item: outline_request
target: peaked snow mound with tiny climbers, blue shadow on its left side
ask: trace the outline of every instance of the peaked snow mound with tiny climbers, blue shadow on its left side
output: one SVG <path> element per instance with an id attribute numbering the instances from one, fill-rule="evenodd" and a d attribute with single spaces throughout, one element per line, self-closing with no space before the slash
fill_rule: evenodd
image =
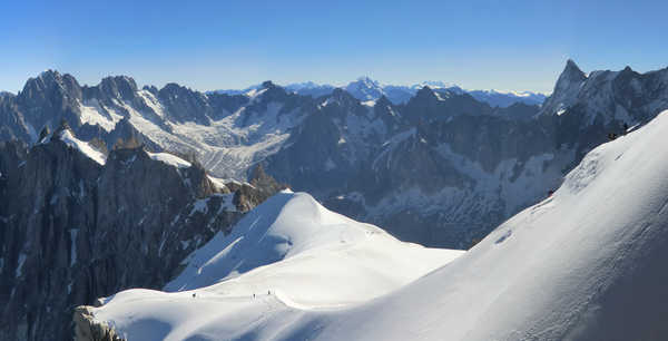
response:
<path id="1" fill-rule="evenodd" d="M 232 234 L 194 252 L 166 285 L 170 293 L 125 291 L 106 299 L 95 316 L 130 340 L 232 338 L 276 315 L 377 298 L 461 254 L 399 242 L 327 211 L 308 194 L 283 192 Z"/>

